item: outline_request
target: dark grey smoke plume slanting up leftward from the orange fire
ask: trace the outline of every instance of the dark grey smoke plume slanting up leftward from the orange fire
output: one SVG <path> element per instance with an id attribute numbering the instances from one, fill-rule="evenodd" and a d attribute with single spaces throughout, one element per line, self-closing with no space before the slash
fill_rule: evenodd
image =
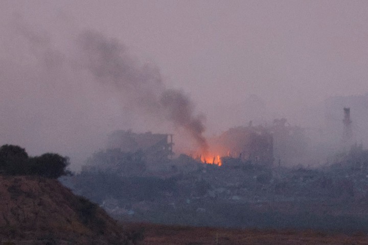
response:
<path id="1" fill-rule="evenodd" d="M 208 149 L 203 117 L 193 113 L 193 104 L 180 90 L 166 89 L 156 67 L 140 67 L 117 40 L 85 32 L 80 35 L 82 66 L 102 83 L 114 86 L 130 105 L 153 114 L 165 116 L 174 126 L 186 130 L 199 144 Z"/>

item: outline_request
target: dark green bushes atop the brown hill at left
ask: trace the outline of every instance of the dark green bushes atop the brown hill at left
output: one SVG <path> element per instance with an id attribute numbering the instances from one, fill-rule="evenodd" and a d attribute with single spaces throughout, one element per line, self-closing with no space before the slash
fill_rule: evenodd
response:
<path id="1" fill-rule="evenodd" d="M 3 175 L 36 175 L 51 179 L 67 175 L 67 157 L 55 153 L 29 157 L 24 148 L 5 144 L 0 147 L 0 173 Z"/>

